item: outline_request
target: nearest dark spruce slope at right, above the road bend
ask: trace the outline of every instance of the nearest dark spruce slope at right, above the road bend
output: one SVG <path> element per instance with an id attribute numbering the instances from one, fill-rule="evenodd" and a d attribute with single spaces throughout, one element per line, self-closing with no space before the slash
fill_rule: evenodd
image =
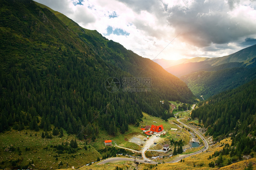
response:
<path id="1" fill-rule="evenodd" d="M 232 147 L 227 150 L 230 157 L 249 155 L 256 151 L 256 79 L 239 88 L 209 98 L 191 113 L 207 128 L 205 135 L 214 140 L 232 136 Z"/>

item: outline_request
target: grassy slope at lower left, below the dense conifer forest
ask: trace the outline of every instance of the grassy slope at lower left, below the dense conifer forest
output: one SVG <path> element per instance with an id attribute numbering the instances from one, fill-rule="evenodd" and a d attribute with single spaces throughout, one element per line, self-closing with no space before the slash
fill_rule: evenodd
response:
<path id="1" fill-rule="evenodd" d="M 64 152 L 58 154 L 53 147 L 54 145 L 61 144 L 62 142 L 70 142 L 71 139 L 75 139 L 74 135 L 67 135 L 64 132 L 64 136 L 59 138 L 53 136 L 52 139 L 42 139 L 42 131 L 35 132 L 30 130 L 23 131 L 7 131 L 1 135 L 0 143 L 2 150 L 11 147 L 13 151 L 0 152 L 0 161 L 4 164 L 4 167 L 11 168 L 13 166 L 20 166 L 25 168 L 26 166 L 32 167 L 34 164 L 36 169 L 58 169 L 75 166 L 79 168 L 90 161 L 96 161 L 100 154 L 93 146 L 87 145 L 88 150 L 85 150 L 84 142 L 77 141 L 78 149 L 76 153 Z M 31 134 L 31 136 L 30 136 Z M 37 134 L 37 136 L 35 136 Z M 58 163 L 63 162 L 63 166 L 59 166 Z M 4 168 L 1 165 L 1 168 Z M 0 169 L 1 169 L 0 168 Z"/>

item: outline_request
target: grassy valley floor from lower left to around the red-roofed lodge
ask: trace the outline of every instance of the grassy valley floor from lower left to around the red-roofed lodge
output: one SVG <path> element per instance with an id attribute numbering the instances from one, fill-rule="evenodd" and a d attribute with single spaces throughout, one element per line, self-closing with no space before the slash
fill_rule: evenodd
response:
<path id="1" fill-rule="evenodd" d="M 39 132 L 31 131 L 29 129 L 25 129 L 22 131 L 11 130 L 6 131 L 4 134 L 1 133 L 0 143 L 2 146 L 2 150 L 10 149 L 12 151 L 8 152 L 0 152 L 0 169 L 11 168 L 11 167 L 20 167 L 27 168 L 32 167 L 31 164 L 34 164 L 34 168 L 36 169 L 58 169 L 58 168 L 70 168 L 74 166 L 75 168 L 79 168 L 84 166 L 87 163 L 95 162 L 97 157 L 102 158 L 102 154 L 98 151 L 100 149 L 104 149 L 106 146 L 104 145 L 104 140 L 113 140 L 119 146 L 130 148 L 133 150 L 141 150 L 141 146 L 138 144 L 129 142 L 129 140 L 137 135 L 146 135 L 142 133 L 140 130 L 141 125 L 144 127 L 146 125 L 163 125 L 164 131 L 166 131 L 165 135 L 161 135 L 163 138 L 158 145 L 152 149 L 161 149 L 163 144 L 169 144 L 170 139 L 174 139 L 174 141 L 178 141 L 180 139 L 185 141 L 185 144 L 189 142 L 190 134 L 185 128 L 178 128 L 177 125 L 172 122 L 177 123 L 175 118 L 168 119 L 168 122 L 148 115 L 143 112 L 143 121 L 139 123 L 139 126 L 129 125 L 129 130 L 124 134 L 121 134 L 118 131 L 116 136 L 110 136 L 105 131 L 99 131 L 99 135 L 96 137 L 94 141 L 91 139 L 87 139 L 87 149 L 85 150 L 85 140 L 79 141 L 78 149 L 74 153 L 68 153 L 68 151 L 64 151 L 63 153 L 57 153 L 54 145 L 61 145 L 62 143 L 68 142 L 70 143 L 71 139 L 76 139 L 75 135 L 68 135 L 64 131 L 64 136 L 62 138 L 58 136 L 53 136 L 52 139 L 42 138 L 42 130 Z M 157 123 L 154 123 L 157 122 Z M 53 128 L 53 127 L 52 127 Z M 171 131 L 171 128 L 178 128 L 178 131 Z M 49 132 L 50 133 L 50 132 Z M 36 135 L 35 135 L 36 134 Z M 113 142 L 113 145 L 115 143 Z M 107 146 L 111 147 L 111 146 Z M 174 146 L 170 146 L 173 149 Z M 171 152 L 168 152 L 170 154 Z M 104 154 L 104 153 L 103 153 Z M 140 155 L 140 153 L 134 153 L 133 155 Z M 59 163 L 62 162 L 63 165 L 59 166 Z"/>

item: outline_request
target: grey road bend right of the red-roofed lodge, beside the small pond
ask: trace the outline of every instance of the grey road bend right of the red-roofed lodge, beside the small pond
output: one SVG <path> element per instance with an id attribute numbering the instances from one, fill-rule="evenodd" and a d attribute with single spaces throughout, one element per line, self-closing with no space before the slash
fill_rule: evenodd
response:
<path id="1" fill-rule="evenodd" d="M 184 118 L 180 118 L 180 119 L 184 119 Z M 196 134 L 198 134 L 198 136 L 203 140 L 204 144 L 205 144 L 205 148 L 199 150 L 199 151 L 196 151 L 194 153 L 190 153 L 190 154 L 186 154 L 186 155 L 179 155 L 178 158 L 172 160 L 172 161 L 169 161 L 169 162 L 166 162 L 166 163 L 175 163 L 175 162 L 179 162 L 181 159 L 184 159 L 184 158 L 187 158 L 189 156 L 192 156 L 192 155 L 196 155 L 196 154 L 199 154 L 199 153 L 202 153 L 203 151 L 207 150 L 209 148 L 209 144 L 208 142 L 206 141 L 206 139 L 204 138 L 204 136 L 202 136 L 197 130 L 195 130 L 194 128 L 191 128 L 190 126 L 186 125 L 185 123 L 182 123 L 181 121 L 179 121 L 180 119 L 177 119 L 177 121 L 179 123 L 181 123 L 182 125 L 186 126 L 187 128 L 190 128 L 192 131 L 196 132 Z"/>

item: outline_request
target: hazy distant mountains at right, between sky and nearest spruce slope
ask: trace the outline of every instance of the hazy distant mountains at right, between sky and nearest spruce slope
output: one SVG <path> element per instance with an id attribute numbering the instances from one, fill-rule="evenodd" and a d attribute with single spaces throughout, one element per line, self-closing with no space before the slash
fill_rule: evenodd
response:
<path id="1" fill-rule="evenodd" d="M 204 99 L 236 88 L 256 77 L 256 45 L 217 58 L 154 61 L 187 83 L 196 97 L 203 95 Z"/>

